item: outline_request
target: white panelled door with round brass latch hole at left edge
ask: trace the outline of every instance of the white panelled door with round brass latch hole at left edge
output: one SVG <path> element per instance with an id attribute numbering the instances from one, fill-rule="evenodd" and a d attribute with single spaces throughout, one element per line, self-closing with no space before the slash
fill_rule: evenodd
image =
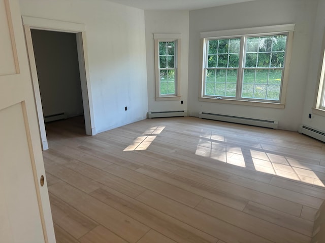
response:
<path id="1" fill-rule="evenodd" d="M 54 243 L 18 0 L 0 0 L 0 33 L 0 242 Z"/>

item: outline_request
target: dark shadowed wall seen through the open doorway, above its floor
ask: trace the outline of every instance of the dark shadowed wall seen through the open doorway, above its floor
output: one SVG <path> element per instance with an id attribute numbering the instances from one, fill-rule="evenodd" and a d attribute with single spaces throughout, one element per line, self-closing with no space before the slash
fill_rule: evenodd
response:
<path id="1" fill-rule="evenodd" d="M 45 123 L 84 115 L 76 34 L 30 32 Z"/>

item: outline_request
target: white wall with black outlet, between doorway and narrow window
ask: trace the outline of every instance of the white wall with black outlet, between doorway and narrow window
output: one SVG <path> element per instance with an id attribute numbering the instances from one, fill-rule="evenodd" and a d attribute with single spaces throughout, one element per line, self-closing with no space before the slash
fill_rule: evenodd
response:
<path id="1" fill-rule="evenodd" d="M 105 0 L 20 0 L 20 8 L 25 16 L 85 24 L 96 133 L 146 118 L 143 10 Z"/>

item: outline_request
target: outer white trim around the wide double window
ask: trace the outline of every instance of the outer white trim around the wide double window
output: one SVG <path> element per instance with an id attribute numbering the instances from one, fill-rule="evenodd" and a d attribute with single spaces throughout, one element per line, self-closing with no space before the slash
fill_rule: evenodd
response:
<path id="1" fill-rule="evenodd" d="M 288 77 L 289 77 L 289 64 L 292 53 L 293 46 L 293 36 L 294 36 L 295 24 L 284 24 L 284 25 L 275 25 L 275 26 L 265 26 L 265 27 L 254 27 L 254 28 L 244 28 L 244 29 L 233 29 L 233 30 L 220 30 L 220 31 L 210 31 L 210 32 L 201 32 L 201 84 L 199 90 L 199 101 L 204 102 L 214 102 L 214 103 L 223 103 L 223 104 L 238 104 L 238 105 L 250 105 L 250 106 L 260 106 L 260 107 L 270 107 L 270 108 L 285 108 L 285 98 L 286 98 L 286 90 L 288 85 Z M 281 34 L 287 33 L 287 47 L 286 47 L 286 58 L 284 62 L 284 72 L 283 72 L 283 80 L 281 86 L 280 100 L 279 102 L 270 102 L 269 100 L 252 100 L 252 99 L 234 99 L 234 98 L 214 98 L 214 97 L 206 97 L 204 96 L 204 69 L 205 69 L 205 57 L 206 57 L 206 42 L 209 39 L 215 38 L 234 38 L 243 36 L 261 36 L 261 35 L 271 35 L 271 34 Z M 243 62 L 244 50 L 240 50 L 240 62 Z M 241 80 L 241 79 L 240 79 Z M 238 84 L 238 83 L 237 83 Z M 238 89 L 237 95 L 240 92 Z"/>

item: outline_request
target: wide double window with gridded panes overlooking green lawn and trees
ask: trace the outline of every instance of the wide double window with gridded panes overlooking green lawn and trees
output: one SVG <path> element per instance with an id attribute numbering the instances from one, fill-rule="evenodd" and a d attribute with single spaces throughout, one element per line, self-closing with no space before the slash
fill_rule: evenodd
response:
<path id="1" fill-rule="evenodd" d="M 294 25 L 275 27 L 292 31 Z M 258 31 L 261 28 L 234 30 L 236 35 L 229 35 L 231 31 L 201 33 L 209 35 L 203 38 L 202 101 L 284 103 L 292 32 Z M 230 37 L 210 37 L 219 32 Z"/>

